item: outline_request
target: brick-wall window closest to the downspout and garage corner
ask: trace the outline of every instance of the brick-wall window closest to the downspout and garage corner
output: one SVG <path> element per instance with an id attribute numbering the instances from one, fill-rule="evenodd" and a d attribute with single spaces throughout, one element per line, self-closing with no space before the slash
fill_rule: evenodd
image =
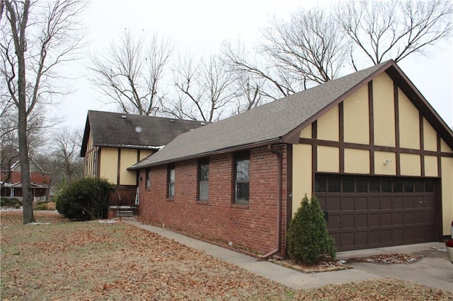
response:
<path id="1" fill-rule="evenodd" d="M 248 203 L 250 191 L 250 153 L 240 153 L 234 158 L 235 203 Z"/>

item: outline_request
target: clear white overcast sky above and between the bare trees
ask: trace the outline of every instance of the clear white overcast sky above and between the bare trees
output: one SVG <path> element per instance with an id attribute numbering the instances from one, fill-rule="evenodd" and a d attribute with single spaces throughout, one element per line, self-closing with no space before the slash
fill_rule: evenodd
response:
<path id="1" fill-rule="evenodd" d="M 287 18 L 302 5 L 323 5 L 326 1 L 304 0 L 155 0 L 117 1 L 92 0 L 85 12 L 84 22 L 88 26 L 90 44 L 86 52 L 100 52 L 120 35 L 125 28 L 132 33 L 144 31 L 152 35 L 159 33 L 170 37 L 176 52 L 209 55 L 219 50 L 223 40 L 236 39 L 250 42 L 258 37 L 271 16 Z M 105 107 L 102 97 L 88 81 L 89 61 L 79 62 L 79 71 L 73 76 L 80 79 L 74 84 L 76 92 L 67 95 L 61 105 L 50 114 L 67 117 L 59 126 L 83 128 L 88 110 L 113 110 Z M 442 43 L 442 47 L 431 49 L 425 56 L 404 59 L 398 65 L 420 90 L 432 107 L 449 125 L 453 125 L 453 41 Z"/>

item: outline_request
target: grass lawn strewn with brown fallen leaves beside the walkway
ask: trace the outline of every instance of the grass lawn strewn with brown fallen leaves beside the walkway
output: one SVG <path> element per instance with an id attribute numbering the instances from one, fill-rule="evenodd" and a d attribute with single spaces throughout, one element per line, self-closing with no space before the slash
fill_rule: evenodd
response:
<path id="1" fill-rule="evenodd" d="M 1 300 L 453 299 L 389 278 L 296 291 L 125 223 L 35 217 L 0 213 Z"/>

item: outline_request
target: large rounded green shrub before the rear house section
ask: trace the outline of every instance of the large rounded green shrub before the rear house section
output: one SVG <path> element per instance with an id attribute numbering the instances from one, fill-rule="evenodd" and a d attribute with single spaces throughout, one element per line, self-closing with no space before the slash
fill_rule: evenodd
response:
<path id="1" fill-rule="evenodd" d="M 80 179 L 60 191 L 55 200 L 57 211 L 72 220 L 107 218 L 108 199 L 115 191 L 105 179 Z"/>

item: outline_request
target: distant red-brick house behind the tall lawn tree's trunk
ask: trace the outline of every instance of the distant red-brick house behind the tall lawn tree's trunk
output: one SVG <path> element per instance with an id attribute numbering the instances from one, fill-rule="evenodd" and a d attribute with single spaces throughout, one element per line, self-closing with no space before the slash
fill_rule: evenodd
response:
<path id="1" fill-rule="evenodd" d="M 21 164 L 17 151 L 2 150 L 0 196 L 22 199 Z M 30 182 L 33 200 L 46 201 L 49 196 L 50 173 L 42 170 L 40 165 L 30 158 Z"/>

